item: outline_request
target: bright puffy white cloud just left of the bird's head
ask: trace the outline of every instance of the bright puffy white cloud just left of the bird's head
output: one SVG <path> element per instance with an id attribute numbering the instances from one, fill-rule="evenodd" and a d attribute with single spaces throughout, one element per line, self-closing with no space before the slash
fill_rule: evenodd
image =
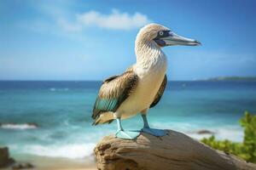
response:
<path id="1" fill-rule="evenodd" d="M 81 26 L 98 26 L 113 30 L 131 30 L 133 28 L 144 26 L 149 23 L 148 16 L 145 14 L 120 13 L 119 10 L 113 9 L 111 14 L 101 14 L 91 10 L 84 14 L 77 15 L 77 22 Z"/>

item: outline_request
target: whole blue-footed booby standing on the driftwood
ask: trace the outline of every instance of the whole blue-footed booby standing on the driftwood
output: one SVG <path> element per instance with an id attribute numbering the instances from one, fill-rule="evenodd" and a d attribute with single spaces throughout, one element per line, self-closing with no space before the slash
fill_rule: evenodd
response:
<path id="1" fill-rule="evenodd" d="M 121 120 L 140 113 L 144 126 L 142 132 L 154 136 L 166 135 L 165 130 L 150 128 L 148 110 L 157 105 L 166 88 L 166 54 L 163 47 L 172 45 L 197 46 L 201 43 L 175 34 L 165 26 L 149 24 L 137 34 L 135 53 L 137 61 L 119 76 L 102 82 L 96 98 L 92 118 L 93 125 L 110 123 L 115 119 L 120 139 L 136 139 L 140 131 L 127 131 Z"/>

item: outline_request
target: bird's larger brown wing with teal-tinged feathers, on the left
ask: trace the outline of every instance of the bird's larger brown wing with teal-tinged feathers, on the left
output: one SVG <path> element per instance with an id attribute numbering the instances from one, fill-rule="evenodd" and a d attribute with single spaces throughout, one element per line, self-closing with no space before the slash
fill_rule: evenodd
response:
<path id="1" fill-rule="evenodd" d="M 133 71 L 125 71 L 120 76 L 109 77 L 102 83 L 96 99 L 92 118 L 96 120 L 102 113 L 117 111 L 132 90 L 137 86 L 138 77 Z"/>

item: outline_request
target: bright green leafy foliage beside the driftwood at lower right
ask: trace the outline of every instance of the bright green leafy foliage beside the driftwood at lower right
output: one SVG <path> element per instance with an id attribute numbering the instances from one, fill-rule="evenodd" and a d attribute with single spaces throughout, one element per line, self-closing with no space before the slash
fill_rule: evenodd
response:
<path id="1" fill-rule="evenodd" d="M 208 139 L 201 139 L 201 142 L 216 150 L 223 150 L 225 153 L 256 163 L 256 116 L 246 111 L 240 120 L 240 124 L 244 128 L 242 143 L 232 142 L 228 139 L 216 140 L 214 136 Z"/>

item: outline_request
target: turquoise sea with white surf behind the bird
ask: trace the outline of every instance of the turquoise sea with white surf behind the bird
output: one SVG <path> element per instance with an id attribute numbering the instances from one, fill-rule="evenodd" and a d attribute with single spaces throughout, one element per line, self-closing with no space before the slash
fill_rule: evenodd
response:
<path id="1" fill-rule="evenodd" d="M 116 124 L 92 127 L 90 118 L 101 82 L 0 82 L 0 145 L 12 155 L 81 158 Z M 148 113 L 152 127 L 171 128 L 201 139 L 242 140 L 238 120 L 256 113 L 256 82 L 168 82 L 160 104 Z M 36 123 L 38 127 L 27 123 Z M 139 129 L 142 118 L 124 121 Z"/>

